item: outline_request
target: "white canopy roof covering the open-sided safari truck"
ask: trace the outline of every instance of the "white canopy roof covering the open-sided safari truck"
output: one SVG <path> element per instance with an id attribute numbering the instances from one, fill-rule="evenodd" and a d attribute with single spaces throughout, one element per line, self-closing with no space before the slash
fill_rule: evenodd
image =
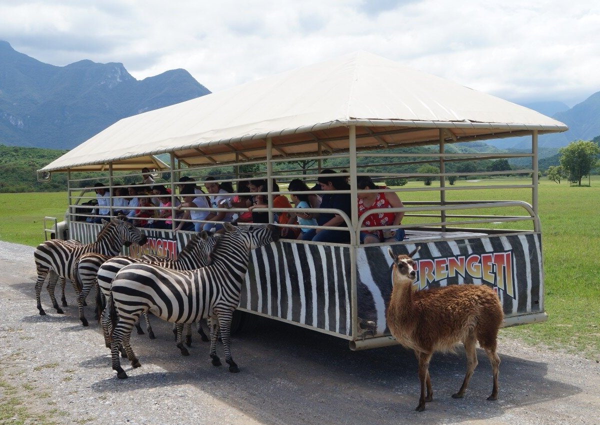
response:
<path id="1" fill-rule="evenodd" d="M 566 131 L 562 122 L 367 52 L 356 52 L 225 91 L 121 119 L 41 171 L 157 167 L 175 152 L 188 164 L 265 157 L 266 137 L 281 155 L 386 148 Z M 299 144 L 310 140 L 313 144 Z"/>

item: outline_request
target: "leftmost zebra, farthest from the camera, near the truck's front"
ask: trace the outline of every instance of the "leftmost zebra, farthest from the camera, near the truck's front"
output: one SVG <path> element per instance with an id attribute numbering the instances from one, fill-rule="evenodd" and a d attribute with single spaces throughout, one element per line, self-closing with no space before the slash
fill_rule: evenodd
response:
<path id="1" fill-rule="evenodd" d="M 94 243 L 86 245 L 73 244 L 71 241 L 52 239 L 41 243 L 34 250 L 35 267 L 37 268 L 37 282 L 35 282 L 35 299 L 40 316 L 46 315 L 41 307 L 40 293 L 46 277 L 49 276 L 47 291 L 52 300 L 56 313 L 64 313 L 56 302 L 54 289 L 59 277 L 75 281 L 74 273 L 77 260 L 83 254 L 97 252 L 104 255 L 115 256 L 125 242 L 143 245 L 146 235 L 131 223 L 116 218 L 104 226 Z"/>

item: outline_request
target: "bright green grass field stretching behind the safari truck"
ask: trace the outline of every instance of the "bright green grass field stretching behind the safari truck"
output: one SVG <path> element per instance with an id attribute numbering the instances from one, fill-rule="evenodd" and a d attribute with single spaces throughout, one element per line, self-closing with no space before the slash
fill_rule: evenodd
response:
<path id="1" fill-rule="evenodd" d="M 493 188 L 500 184 L 527 184 L 527 179 L 460 181 L 460 185 L 490 185 L 487 190 L 449 192 L 447 200 L 510 199 L 531 202 L 530 189 L 510 193 Z M 410 182 L 406 187 L 423 187 Z M 407 192 L 403 200 L 439 200 L 438 192 Z M 44 240 L 43 217 L 62 220 L 67 208 L 65 193 L 0 194 L 0 240 L 36 246 Z M 600 360 L 600 178 L 590 187 L 569 187 L 541 179 L 539 211 L 545 270 L 545 310 L 548 322 L 502 330 L 527 343 L 577 352 Z M 475 214 L 482 214 L 478 211 Z M 523 210 L 515 210 L 523 215 Z M 486 211 L 485 214 L 489 214 Z M 410 218 L 404 220 L 409 222 Z M 495 225 L 500 227 L 503 225 Z M 527 222 L 509 228 L 530 229 Z"/>

